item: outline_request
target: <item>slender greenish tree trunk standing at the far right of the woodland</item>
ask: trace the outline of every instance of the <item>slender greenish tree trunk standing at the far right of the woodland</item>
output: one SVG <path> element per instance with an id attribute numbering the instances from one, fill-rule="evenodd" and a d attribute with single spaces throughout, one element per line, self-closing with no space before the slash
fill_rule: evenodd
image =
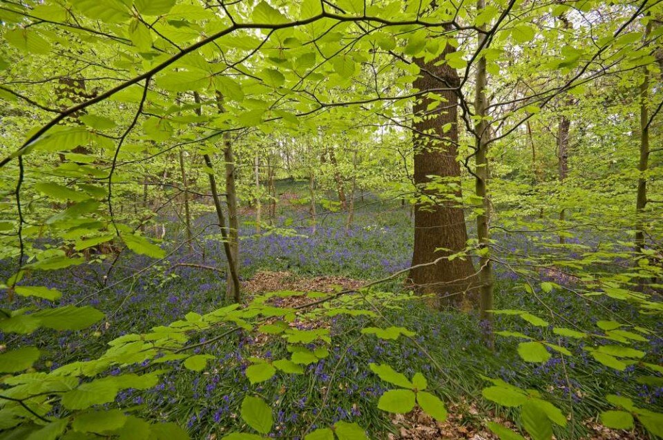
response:
<path id="1" fill-rule="evenodd" d="M 651 21 L 648 21 L 645 36 L 647 39 L 651 32 Z M 639 171 L 637 178 L 637 199 L 635 203 L 635 251 L 644 249 L 644 209 L 647 206 L 647 178 L 646 173 L 649 162 L 649 71 L 645 66 L 644 76 L 640 84 L 640 160 L 637 164 Z"/>

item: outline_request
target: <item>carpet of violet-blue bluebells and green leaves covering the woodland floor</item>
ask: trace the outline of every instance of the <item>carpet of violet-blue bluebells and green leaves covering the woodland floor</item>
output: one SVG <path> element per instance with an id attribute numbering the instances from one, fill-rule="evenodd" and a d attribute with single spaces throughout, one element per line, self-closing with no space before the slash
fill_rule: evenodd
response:
<path id="1" fill-rule="evenodd" d="M 187 312 L 205 313 L 221 307 L 224 275 L 193 267 L 175 267 L 178 262 L 195 262 L 224 267 L 222 245 L 215 237 L 213 216 L 203 215 L 196 220 L 199 233 L 198 246 L 204 247 L 204 260 L 200 252 L 190 254 L 186 247 L 172 247 L 167 261 L 136 255 L 122 254 L 109 272 L 110 259 L 97 265 L 81 265 L 63 271 L 30 274 L 30 283 L 43 283 L 56 287 L 64 294 L 61 303 L 93 305 L 106 313 L 106 320 L 92 329 L 81 332 L 56 333 L 42 331 L 20 337 L 25 343 L 35 343 L 46 352 L 45 367 L 55 368 L 73 360 L 91 358 L 104 351 L 104 344 L 129 332 L 142 332 L 153 325 L 175 321 Z M 256 236 L 251 224 L 240 231 L 241 276 L 251 278 L 256 271 L 291 271 L 298 276 L 339 275 L 359 280 L 382 278 L 404 269 L 412 255 L 412 220 L 410 211 L 400 203 L 371 204 L 360 209 L 354 225 L 344 227 L 345 218 L 333 213 L 319 216 L 316 233 L 311 231 L 307 216 L 300 211 L 281 209 L 275 224 L 280 229 Z M 180 224 L 169 227 L 171 242 L 177 242 Z M 525 234 L 504 234 L 501 246 L 524 254 L 536 251 L 536 240 Z M 135 276 L 137 271 L 154 265 Z M 0 277 L 8 276 L 7 265 L 0 265 Z M 559 280 L 557 280 L 559 282 Z M 381 289 L 401 289 L 403 280 L 395 280 Z M 539 292 L 539 294 L 542 294 Z M 611 303 L 590 303 L 577 296 L 555 290 L 545 294 L 546 302 L 569 320 L 588 329 L 604 318 L 602 307 L 615 307 Z M 497 308 L 545 310 L 532 296 L 524 293 L 517 276 L 497 268 Z M 26 303 L 30 302 L 23 299 Z M 39 303 L 48 307 L 48 303 Z M 27 304 L 26 304 L 27 305 Z M 373 432 L 390 429 L 387 414 L 376 408 L 378 397 L 385 390 L 368 369 L 370 362 L 389 363 L 411 376 L 423 372 L 431 389 L 448 402 L 468 399 L 468 405 L 455 410 L 466 412 L 465 423 L 495 408 L 486 401 L 476 399 L 485 382 L 481 374 L 499 377 L 524 388 L 537 388 L 549 392 L 551 401 L 568 412 L 573 403 L 577 420 L 586 419 L 604 409 L 603 399 L 608 393 L 638 396 L 648 408 L 662 408 L 663 389 L 651 388 L 629 380 L 631 370 L 608 371 L 583 354 L 579 343 L 560 338 L 559 344 L 572 348 L 576 356 L 566 358 L 564 365 L 559 356 L 553 356 L 545 365 L 526 364 L 515 352 L 515 340 L 498 338 L 496 353 L 490 354 L 481 344 L 481 329 L 476 318 L 452 312 L 432 312 L 423 304 L 412 303 L 405 311 L 387 318 L 390 325 L 402 325 L 419 336 L 411 341 L 381 341 L 361 337 L 356 327 L 359 318 L 339 318 L 332 323 L 333 350 L 327 359 L 309 365 L 304 375 L 277 375 L 262 383 L 258 392 L 273 403 L 276 428 L 273 437 L 297 438 L 305 428 L 327 426 L 338 420 L 357 421 Z M 619 314 L 631 320 L 642 319 L 635 309 L 619 305 Z M 388 313 L 388 312 L 387 312 Z M 646 323 L 661 330 L 660 323 Z M 498 316 L 497 327 L 535 336 L 537 332 L 549 334 L 548 329 L 527 326 L 508 316 Z M 17 343 L 17 336 L 0 335 L 2 344 Z M 662 361 L 660 341 L 647 343 L 645 350 L 652 361 Z M 421 347 L 425 347 L 440 371 L 430 363 Z M 582 346 L 580 346 L 582 347 Z M 285 347 L 260 346 L 250 336 L 218 341 L 204 352 L 218 359 L 209 364 L 203 374 L 195 374 L 175 367 L 162 377 L 153 390 L 132 392 L 126 390 L 118 396 L 124 405 L 133 404 L 137 410 L 151 414 L 155 419 L 177 421 L 189 428 L 193 438 L 205 438 L 236 429 L 240 423 L 238 407 L 249 381 L 244 376 L 247 357 L 260 354 L 282 356 Z M 338 365 L 337 365 L 338 364 Z M 565 374 L 565 372 L 568 372 Z M 111 372 L 113 374 L 113 372 Z M 329 389 L 323 401 L 323 390 Z M 463 397 L 464 396 L 464 397 Z M 477 411 L 470 411 L 470 406 Z M 503 410 L 502 410 L 503 411 Z M 392 428 L 393 429 L 393 428 Z M 581 428 L 582 429 L 582 428 Z"/>

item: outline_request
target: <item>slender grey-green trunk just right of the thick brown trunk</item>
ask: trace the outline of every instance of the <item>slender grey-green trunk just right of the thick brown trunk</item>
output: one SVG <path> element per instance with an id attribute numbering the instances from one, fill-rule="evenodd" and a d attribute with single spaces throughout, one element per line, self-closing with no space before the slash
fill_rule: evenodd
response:
<path id="1" fill-rule="evenodd" d="M 477 11 L 486 7 L 486 0 L 477 1 Z M 485 28 L 485 26 L 483 26 Z M 484 30 L 484 29 L 481 30 Z M 483 45 L 486 35 L 479 33 L 479 45 Z M 488 97 L 486 97 L 486 58 L 480 57 L 477 61 L 476 97 L 474 98 L 474 112 L 480 117 L 477 130 L 477 155 L 475 173 L 475 186 L 477 197 L 481 198 L 482 210 L 477 216 L 477 238 L 479 239 L 479 316 L 483 323 L 484 341 L 488 347 L 493 347 L 492 313 L 493 285 L 492 262 L 490 260 L 490 196 L 488 194 L 488 178 L 490 170 L 488 164 L 488 141 L 490 140 L 490 124 L 486 120 L 488 115 Z"/>

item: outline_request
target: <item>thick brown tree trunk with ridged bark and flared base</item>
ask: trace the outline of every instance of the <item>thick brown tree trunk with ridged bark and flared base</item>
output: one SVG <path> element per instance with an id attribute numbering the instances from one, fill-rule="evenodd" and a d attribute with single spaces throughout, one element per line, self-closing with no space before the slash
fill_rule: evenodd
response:
<path id="1" fill-rule="evenodd" d="M 457 87 L 459 77 L 456 70 L 447 64 L 436 65 L 453 50 L 453 46 L 448 44 L 439 59 L 427 63 L 421 58 L 414 59 L 415 64 L 421 68 L 419 77 L 414 80 L 414 88 L 430 90 Z M 430 182 L 429 175 L 457 181 L 461 176 L 460 165 L 456 160 L 456 91 L 436 93 L 443 97 L 443 102 L 432 111 L 427 111 L 427 106 L 432 102 L 428 97 L 419 99 L 413 108 L 414 182 L 423 198 L 414 207 L 414 250 L 410 281 L 417 292 L 434 294 L 438 298 L 437 306 L 459 307 L 476 303 L 472 293 L 472 288 L 476 287 L 476 276 L 470 258 L 442 259 L 435 265 L 416 267 L 462 251 L 468 240 L 462 207 L 454 201 L 440 201 L 438 191 L 425 189 L 427 182 Z M 443 130 L 446 124 L 450 124 L 448 131 Z M 461 195 L 460 190 L 454 195 Z"/>

